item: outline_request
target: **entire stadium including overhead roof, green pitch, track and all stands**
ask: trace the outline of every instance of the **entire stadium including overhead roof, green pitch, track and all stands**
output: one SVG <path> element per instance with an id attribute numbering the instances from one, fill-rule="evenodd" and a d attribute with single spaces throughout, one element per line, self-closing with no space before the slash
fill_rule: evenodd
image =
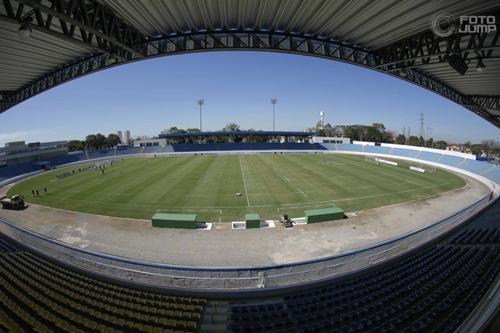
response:
<path id="1" fill-rule="evenodd" d="M 379 71 L 500 127 L 499 9 L 4 0 L 0 110 L 118 65 L 246 50 Z M 452 26 L 497 23 L 439 35 L 439 10 Z M 221 136 L 281 139 L 208 143 Z M 0 168 L 0 331 L 498 330 L 500 165 L 310 132 L 202 132 L 201 119 L 159 137 L 53 155 L 60 143 L 23 143 Z M 24 160 L 35 151 L 43 163 Z"/>

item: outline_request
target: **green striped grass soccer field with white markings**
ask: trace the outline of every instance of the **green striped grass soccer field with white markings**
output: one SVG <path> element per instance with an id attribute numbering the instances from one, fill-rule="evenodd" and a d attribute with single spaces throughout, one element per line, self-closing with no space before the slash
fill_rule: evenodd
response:
<path id="1" fill-rule="evenodd" d="M 23 194 L 36 204 L 110 216 L 149 219 L 161 211 L 196 213 L 199 220 L 238 221 L 246 213 L 299 217 L 305 209 L 333 205 L 346 212 L 362 210 L 465 185 L 449 172 L 422 174 L 398 163 L 377 165 L 363 156 L 340 154 L 128 158 L 115 161 L 104 174 L 89 170 L 57 178 L 82 165 L 53 170 L 16 184 L 9 194 Z M 48 194 L 42 193 L 44 187 Z M 32 189 L 38 189 L 40 196 L 33 197 Z"/>

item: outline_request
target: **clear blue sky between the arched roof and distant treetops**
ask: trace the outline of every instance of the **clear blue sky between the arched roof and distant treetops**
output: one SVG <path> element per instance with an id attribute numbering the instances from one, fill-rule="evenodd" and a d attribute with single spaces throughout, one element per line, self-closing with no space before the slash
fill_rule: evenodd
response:
<path id="1" fill-rule="evenodd" d="M 378 72 L 320 58 L 233 51 L 138 61 L 63 84 L 0 114 L 0 145 L 198 127 L 199 98 L 205 99 L 205 130 L 228 122 L 272 129 L 273 96 L 278 130 L 311 127 L 323 110 L 332 125 L 382 122 L 418 135 L 423 112 L 434 138 L 478 142 L 500 136 L 455 103 Z"/>

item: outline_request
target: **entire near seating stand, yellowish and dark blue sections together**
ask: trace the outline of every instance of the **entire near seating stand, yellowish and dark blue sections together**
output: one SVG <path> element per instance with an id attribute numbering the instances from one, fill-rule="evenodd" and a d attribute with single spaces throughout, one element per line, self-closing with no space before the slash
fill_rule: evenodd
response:
<path id="1" fill-rule="evenodd" d="M 0 331 L 453 332 L 500 273 L 499 217 L 497 201 L 389 263 L 320 287 L 222 301 L 97 279 L 0 234 Z"/>

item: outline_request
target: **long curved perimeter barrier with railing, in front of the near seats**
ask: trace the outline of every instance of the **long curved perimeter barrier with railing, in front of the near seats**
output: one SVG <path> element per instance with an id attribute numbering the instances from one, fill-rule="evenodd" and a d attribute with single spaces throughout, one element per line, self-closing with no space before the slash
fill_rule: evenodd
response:
<path id="1" fill-rule="evenodd" d="M 308 261 L 260 267 L 194 267 L 119 257 L 81 249 L 0 219 L 0 231 L 49 257 L 118 280 L 169 290 L 221 293 L 282 290 L 318 283 L 394 258 L 450 231 L 483 210 L 487 195 L 432 225 L 370 246 Z"/>

